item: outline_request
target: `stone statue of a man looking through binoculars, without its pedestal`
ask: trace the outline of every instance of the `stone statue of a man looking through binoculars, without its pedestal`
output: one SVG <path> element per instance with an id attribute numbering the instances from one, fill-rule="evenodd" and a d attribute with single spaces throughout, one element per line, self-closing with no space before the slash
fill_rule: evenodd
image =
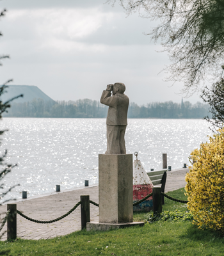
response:
<path id="1" fill-rule="evenodd" d="M 113 95 L 111 96 L 111 92 Z M 100 103 L 109 106 L 107 124 L 107 150 L 105 154 L 126 154 L 125 130 L 127 127 L 127 109 L 129 98 L 124 94 L 123 83 L 108 84 L 102 92 Z"/>

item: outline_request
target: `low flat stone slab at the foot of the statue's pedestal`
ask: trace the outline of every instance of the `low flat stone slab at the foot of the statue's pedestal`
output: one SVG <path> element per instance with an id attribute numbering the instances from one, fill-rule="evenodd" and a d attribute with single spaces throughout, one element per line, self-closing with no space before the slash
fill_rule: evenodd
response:
<path id="1" fill-rule="evenodd" d="M 129 222 L 129 223 L 99 223 L 99 222 L 87 222 L 86 231 L 108 231 L 111 229 L 128 228 L 133 226 L 144 226 L 144 222 Z"/>

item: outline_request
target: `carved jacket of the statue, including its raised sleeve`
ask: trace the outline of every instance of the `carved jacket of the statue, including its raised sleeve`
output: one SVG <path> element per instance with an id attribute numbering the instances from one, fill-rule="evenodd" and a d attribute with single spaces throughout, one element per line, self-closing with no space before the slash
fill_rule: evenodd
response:
<path id="1" fill-rule="evenodd" d="M 100 103 L 109 106 L 107 125 L 127 125 L 127 109 L 129 108 L 129 97 L 124 93 L 116 93 L 111 96 L 111 92 L 103 91 Z"/>

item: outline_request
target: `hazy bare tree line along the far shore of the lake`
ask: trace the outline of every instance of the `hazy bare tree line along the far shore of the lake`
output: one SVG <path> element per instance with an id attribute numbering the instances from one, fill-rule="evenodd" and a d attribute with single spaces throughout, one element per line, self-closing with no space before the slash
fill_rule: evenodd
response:
<path id="1" fill-rule="evenodd" d="M 31 102 L 13 102 L 4 117 L 54 117 L 54 118 L 106 118 L 108 107 L 97 100 L 83 99 L 76 101 L 44 101 L 33 99 Z M 138 106 L 130 103 L 128 118 L 204 118 L 209 115 L 209 106 L 197 102 L 180 104 L 153 102 Z"/>

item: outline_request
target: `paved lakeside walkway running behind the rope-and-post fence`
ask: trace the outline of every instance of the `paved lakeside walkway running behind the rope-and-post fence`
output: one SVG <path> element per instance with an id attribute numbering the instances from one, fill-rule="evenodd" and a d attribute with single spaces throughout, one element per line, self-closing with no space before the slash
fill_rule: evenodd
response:
<path id="1" fill-rule="evenodd" d="M 165 192 L 183 188 L 186 185 L 185 175 L 188 169 L 179 169 L 168 172 Z M 99 202 L 98 186 L 76 189 L 52 195 L 21 200 L 17 202 L 17 209 L 35 220 L 52 220 L 68 212 L 80 200 L 80 195 L 90 195 L 90 200 Z M 13 204 L 13 203 L 12 203 Z M 1 218 L 5 215 L 6 205 L 0 207 Z M 63 220 L 51 224 L 38 224 L 28 221 L 17 214 L 17 237 L 23 239 L 48 239 L 64 236 L 81 229 L 80 205 Z M 91 221 L 98 221 L 98 207 L 90 204 Z M 6 231 L 6 224 L 1 233 Z M 6 239 L 6 233 L 2 240 Z"/>

